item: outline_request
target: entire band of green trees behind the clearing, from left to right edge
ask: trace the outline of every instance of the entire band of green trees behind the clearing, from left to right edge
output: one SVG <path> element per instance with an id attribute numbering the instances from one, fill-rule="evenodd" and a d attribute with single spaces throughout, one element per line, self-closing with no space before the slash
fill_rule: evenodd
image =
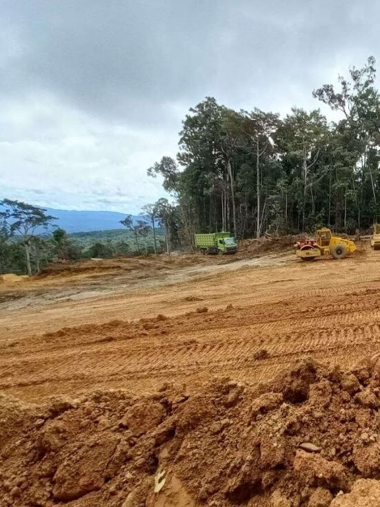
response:
<path id="1" fill-rule="evenodd" d="M 137 223 L 126 216 L 125 233 L 48 231 L 54 217 L 43 209 L 3 200 L 0 273 L 36 273 L 54 259 L 192 250 L 197 232 L 230 231 L 240 240 L 321 226 L 368 230 L 380 214 L 375 63 L 369 57 L 337 86 L 312 91 L 316 105 L 339 118 L 334 122 L 319 108 L 294 107 L 280 117 L 259 108 L 234 111 L 206 97 L 183 119 L 177 157 L 164 156 L 147 171 L 161 177 L 170 197 L 146 204 Z"/>

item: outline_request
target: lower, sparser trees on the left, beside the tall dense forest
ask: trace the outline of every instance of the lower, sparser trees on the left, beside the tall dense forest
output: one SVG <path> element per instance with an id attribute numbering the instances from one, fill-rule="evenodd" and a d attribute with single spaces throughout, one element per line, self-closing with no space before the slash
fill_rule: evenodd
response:
<path id="1" fill-rule="evenodd" d="M 154 208 L 155 209 L 155 208 Z M 147 207 L 150 211 L 150 207 Z M 154 212 L 155 213 L 155 212 Z M 53 224 L 56 220 L 46 210 L 26 202 L 0 201 L 0 274 L 37 274 L 49 262 L 81 258 L 110 258 L 156 254 L 166 250 L 159 218 L 141 215 L 121 220 L 123 231 L 82 233 L 69 236 Z"/>

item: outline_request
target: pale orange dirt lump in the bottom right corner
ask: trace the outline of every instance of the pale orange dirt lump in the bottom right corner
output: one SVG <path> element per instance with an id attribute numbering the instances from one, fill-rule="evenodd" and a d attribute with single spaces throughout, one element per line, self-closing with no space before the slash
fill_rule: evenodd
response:
<path id="1" fill-rule="evenodd" d="M 359 479 L 347 495 L 339 495 L 330 507 L 380 507 L 380 481 Z"/>

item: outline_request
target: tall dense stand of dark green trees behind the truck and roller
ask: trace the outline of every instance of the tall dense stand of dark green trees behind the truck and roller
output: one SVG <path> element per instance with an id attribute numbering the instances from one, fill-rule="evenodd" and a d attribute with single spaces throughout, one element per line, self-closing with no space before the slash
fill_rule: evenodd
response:
<path id="1" fill-rule="evenodd" d="M 337 111 L 294 107 L 286 117 L 234 111 L 213 97 L 190 108 L 177 159 L 163 157 L 148 175 L 163 178 L 173 202 L 150 205 L 170 245 L 193 245 L 195 232 L 297 233 L 326 225 L 353 233 L 379 217 L 380 98 L 375 60 L 352 67 L 315 99 Z"/>

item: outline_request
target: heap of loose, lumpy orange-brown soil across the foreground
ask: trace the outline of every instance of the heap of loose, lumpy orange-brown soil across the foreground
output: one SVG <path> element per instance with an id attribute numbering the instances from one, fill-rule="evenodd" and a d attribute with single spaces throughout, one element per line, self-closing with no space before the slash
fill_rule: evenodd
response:
<path id="1" fill-rule="evenodd" d="M 0 505 L 380 506 L 379 405 L 377 356 L 192 395 L 170 383 L 38 406 L 3 395 Z"/>

